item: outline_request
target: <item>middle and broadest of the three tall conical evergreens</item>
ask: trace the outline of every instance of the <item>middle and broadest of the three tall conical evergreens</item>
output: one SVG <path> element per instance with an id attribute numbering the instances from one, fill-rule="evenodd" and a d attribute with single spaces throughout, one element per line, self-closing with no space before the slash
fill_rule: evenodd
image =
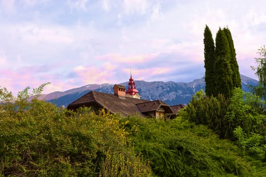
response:
<path id="1" fill-rule="evenodd" d="M 227 37 L 221 28 L 219 28 L 215 38 L 215 62 L 213 69 L 215 71 L 215 87 L 213 96 L 223 94 L 230 98 L 233 93 L 232 69 L 230 65 L 231 55 Z"/>

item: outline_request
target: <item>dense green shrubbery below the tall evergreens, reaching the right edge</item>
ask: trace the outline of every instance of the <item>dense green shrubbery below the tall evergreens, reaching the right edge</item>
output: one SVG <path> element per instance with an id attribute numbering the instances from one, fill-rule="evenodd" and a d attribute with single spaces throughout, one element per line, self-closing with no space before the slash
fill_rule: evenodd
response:
<path id="1" fill-rule="evenodd" d="M 265 102 L 258 96 L 235 89 L 231 99 L 194 96 L 183 117 L 196 124 L 207 125 L 222 139 L 229 139 L 241 149 L 243 157 L 265 166 L 266 116 Z M 266 172 L 266 168 L 261 168 Z"/>

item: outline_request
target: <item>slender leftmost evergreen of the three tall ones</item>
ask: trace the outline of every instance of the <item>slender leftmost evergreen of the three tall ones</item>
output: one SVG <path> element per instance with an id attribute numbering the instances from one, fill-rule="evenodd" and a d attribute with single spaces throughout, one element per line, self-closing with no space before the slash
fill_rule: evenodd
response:
<path id="1" fill-rule="evenodd" d="M 208 96 L 212 95 L 212 91 L 215 87 L 214 78 L 214 41 L 210 28 L 206 25 L 204 30 L 204 67 L 205 67 L 205 93 Z"/>

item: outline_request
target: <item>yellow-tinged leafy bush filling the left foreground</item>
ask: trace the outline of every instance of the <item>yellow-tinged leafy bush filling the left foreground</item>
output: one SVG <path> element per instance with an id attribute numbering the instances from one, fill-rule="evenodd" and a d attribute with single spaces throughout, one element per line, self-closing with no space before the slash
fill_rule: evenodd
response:
<path id="1" fill-rule="evenodd" d="M 23 103 L 23 104 L 22 104 Z M 119 116 L 71 112 L 43 101 L 4 104 L 0 174 L 4 176 L 149 176 Z"/>

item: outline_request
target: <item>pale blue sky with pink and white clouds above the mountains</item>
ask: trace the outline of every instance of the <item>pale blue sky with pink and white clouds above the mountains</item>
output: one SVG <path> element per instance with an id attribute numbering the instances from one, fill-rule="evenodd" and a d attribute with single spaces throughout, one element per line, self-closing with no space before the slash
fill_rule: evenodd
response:
<path id="1" fill-rule="evenodd" d="M 202 78 L 203 33 L 229 27 L 239 71 L 257 79 L 266 1 L 0 0 L 0 86 L 44 94 L 93 83 Z M 137 86 L 137 85 L 136 85 Z"/>

